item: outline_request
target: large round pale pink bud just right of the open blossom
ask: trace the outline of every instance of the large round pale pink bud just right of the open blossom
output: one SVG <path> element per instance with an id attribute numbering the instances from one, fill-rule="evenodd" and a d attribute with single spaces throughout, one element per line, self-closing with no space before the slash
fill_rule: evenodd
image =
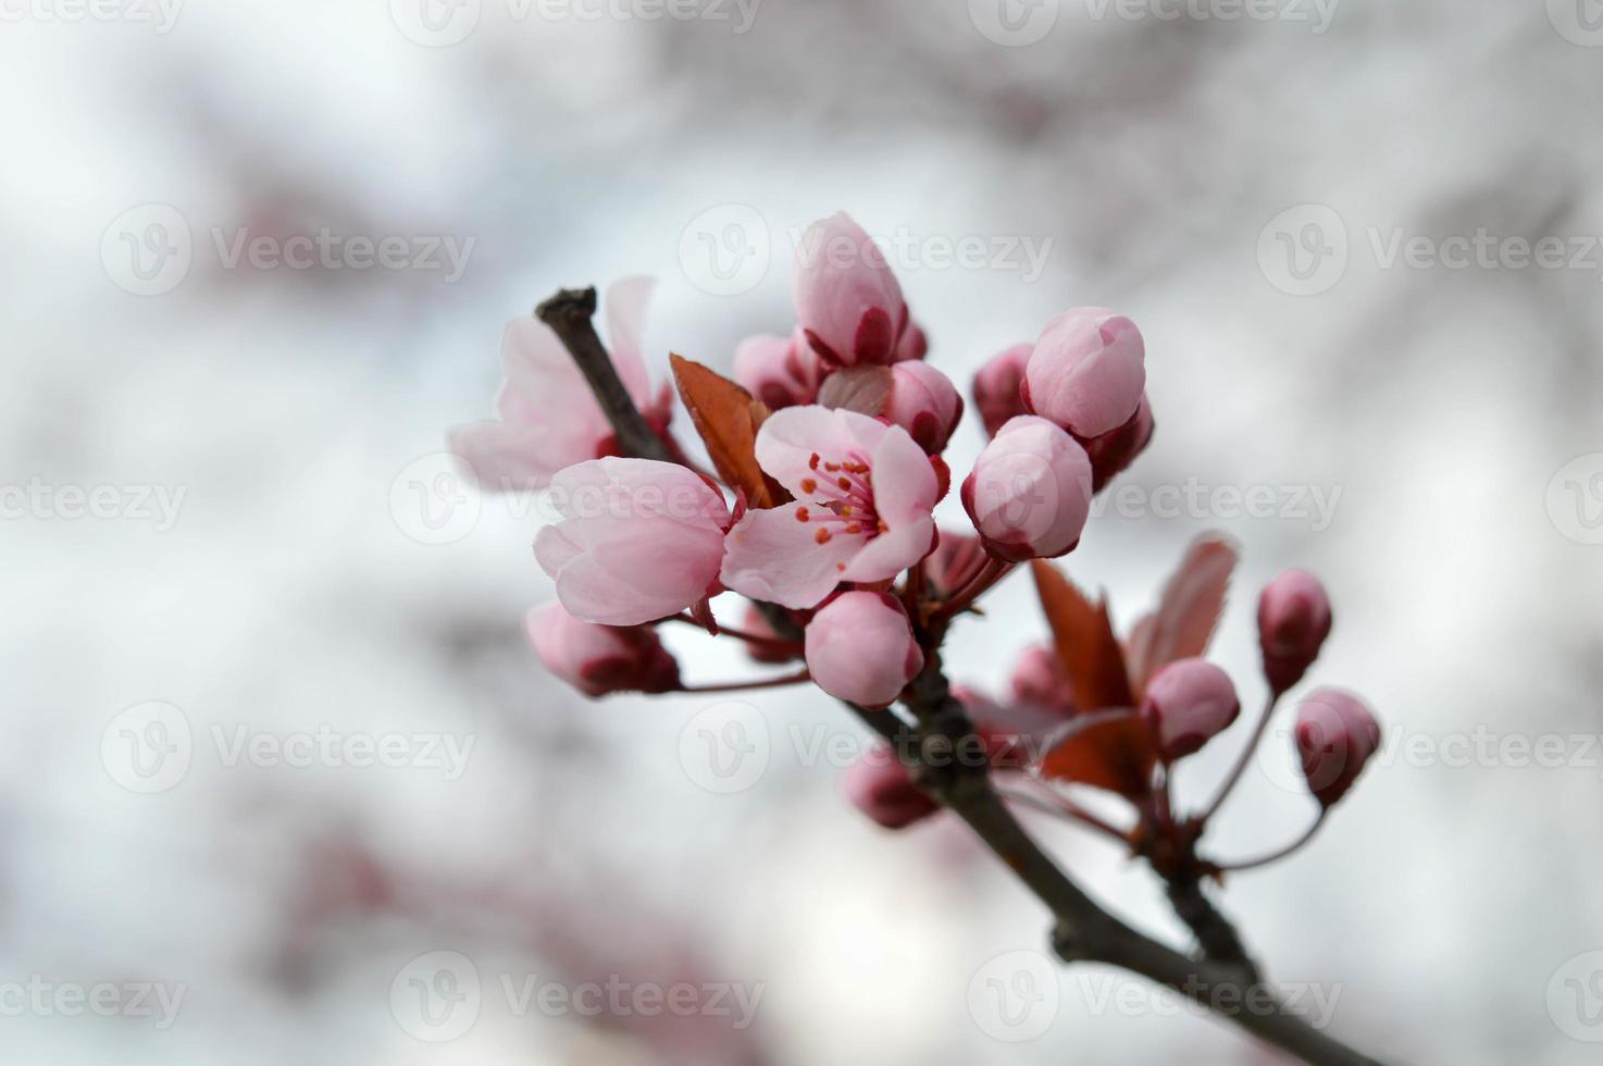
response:
<path id="1" fill-rule="evenodd" d="M 1092 460 L 1058 426 L 1021 415 L 979 454 L 962 497 L 986 551 L 1053 559 L 1074 550 L 1090 518 Z"/>

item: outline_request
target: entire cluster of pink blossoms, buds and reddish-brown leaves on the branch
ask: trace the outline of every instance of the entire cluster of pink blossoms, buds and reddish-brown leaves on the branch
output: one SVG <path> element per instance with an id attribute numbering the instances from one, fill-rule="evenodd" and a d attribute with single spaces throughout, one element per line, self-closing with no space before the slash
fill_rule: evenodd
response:
<path id="1" fill-rule="evenodd" d="M 1095 494 L 1153 439 L 1141 332 L 1106 308 L 1066 311 L 976 375 L 973 407 L 989 442 L 960 487 L 973 529 L 938 531 L 963 398 L 925 362 L 928 338 L 878 245 L 837 215 L 802 242 L 795 324 L 744 341 L 734 382 L 675 359 L 715 476 L 670 436 L 668 391 L 652 391 L 641 346 L 649 292 L 633 281 L 608 293 L 606 370 L 657 434 L 652 455 L 619 454 L 614 412 L 532 319 L 507 329 L 497 418 L 454 434 L 486 487 L 551 492 L 559 521 L 539 531 L 534 553 L 558 603 L 531 616 L 529 636 L 553 673 L 592 697 L 736 688 L 681 680 L 656 628 L 678 620 L 793 670 L 739 686 L 813 683 L 885 710 L 909 697 L 951 622 L 1011 569 L 1031 561 L 1037 582 L 1056 574 L 1045 559 L 1079 545 Z M 725 593 L 750 601 L 741 628 L 715 619 L 712 601 Z M 1106 609 L 1074 598 L 1053 606 L 1044 588 L 1055 630 L 1079 620 L 1063 622 L 1055 648 L 1026 652 L 1010 701 L 967 702 L 997 760 L 1016 761 L 1028 723 L 1031 736 L 1056 737 L 1037 779 L 1122 792 L 1143 819 L 1180 827 L 1185 850 L 1201 826 L 1161 808 L 1169 773 L 1228 729 L 1241 702 L 1196 640 L 1173 636 L 1194 633 L 1197 619 L 1165 616 L 1212 609 L 1210 633 L 1220 604 L 1169 600 L 1119 641 L 1096 628 Z M 1273 709 L 1330 632 L 1324 588 L 1297 571 L 1281 575 L 1263 592 L 1258 625 Z M 1329 806 L 1374 753 L 1379 726 L 1356 697 L 1321 691 L 1295 739 L 1310 792 Z M 896 827 L 936 810 L 896 758 L 854 768 L 848 795 Z M 1130 838 L 1151 832 L 1138 826 Z"/>

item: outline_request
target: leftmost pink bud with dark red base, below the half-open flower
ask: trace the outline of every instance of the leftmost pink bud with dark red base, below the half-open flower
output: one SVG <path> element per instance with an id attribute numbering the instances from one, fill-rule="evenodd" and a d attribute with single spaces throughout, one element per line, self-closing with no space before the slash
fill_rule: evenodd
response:
<path id="1" fill-rule="evenodd" d="M 680 667 L 654 630 L 580 622 L 558 603 L 531 611 L 524 628 L 545 668 L 585 696 L 680 686 Z"/>

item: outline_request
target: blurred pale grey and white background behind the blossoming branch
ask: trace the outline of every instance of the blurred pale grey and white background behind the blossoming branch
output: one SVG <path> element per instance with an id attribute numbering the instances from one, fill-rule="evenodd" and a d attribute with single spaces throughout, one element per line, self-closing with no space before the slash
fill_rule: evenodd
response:
<path id="1" fill-rule="evenodd" d="M 1393 1061 L 1597 1061 L 1603 18 L 1545 8 L 0 2 L 3 1058 L 1281 1061 L 1047 963 L 951 821 L 870 826 L 827 701 L 588 704 L 527 649 L 539 502 L 441 455 L 503 324 L 654 274 L 654 374 L 728 369 L 843 208 L 960 383 L 1069 306 L 1141 325 L 1157 438 L 1068 559 L 1122 624 L 1230 534 L 1254 705 L 1257 588 L 1330 587 L 1314 681 L 1388 742 L 1220 894 L 1271 978 Z M 1044 636 L 1013 579 L 952 673 Z M 1313 816 L 1268 744 L 1217 853 Z"/>

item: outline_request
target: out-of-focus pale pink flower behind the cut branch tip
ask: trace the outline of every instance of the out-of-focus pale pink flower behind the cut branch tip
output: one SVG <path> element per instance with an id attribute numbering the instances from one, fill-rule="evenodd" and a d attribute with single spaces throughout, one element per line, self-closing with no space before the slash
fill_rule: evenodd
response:
<path id="1" fill-rule="evenodd" d="M 606 316 L 612 364 L 628 394 L 649 422 L 667 426 L 672 398 L 651 394 L 651 380 L 640 354 L 646 303 L 654 282 L 632 277 L 608 289 Z M 595 394 L 543 322 L 513 319 L 502 335 L 507 382 L 491 422 L 450 431 L 450 450 L 460 455 L 486 489 L 543 489 L 564 466 L 616 454 L 612 426 Z"/>

